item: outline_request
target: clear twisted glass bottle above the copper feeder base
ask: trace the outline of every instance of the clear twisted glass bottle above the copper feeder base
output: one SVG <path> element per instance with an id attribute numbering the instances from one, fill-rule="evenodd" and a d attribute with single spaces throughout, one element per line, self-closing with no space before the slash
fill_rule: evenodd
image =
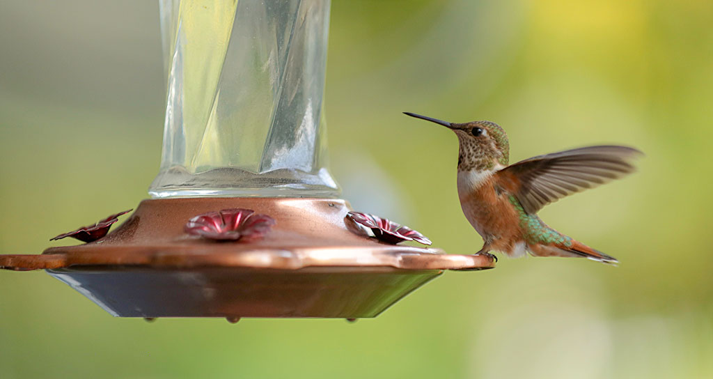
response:
<path id="1" fill-rule="evenodd" d="M 160 0 L 168 74 L 154 198 L 333 198 L 329 0 Z"/>

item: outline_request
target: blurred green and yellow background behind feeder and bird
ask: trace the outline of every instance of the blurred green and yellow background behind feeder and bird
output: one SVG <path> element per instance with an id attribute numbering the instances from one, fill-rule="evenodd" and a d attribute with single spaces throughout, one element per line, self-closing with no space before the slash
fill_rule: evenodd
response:
<path id="1" fill-rule="evenodd" d="M 329 149 L 355 208 L 481 247 L 456 137 L 401 111 L 496 121 L 513 161 L 636 146 L 634 176 L 540 213 L 620 266 L 501 259 L 355 324 L 115 319 L 45 273 L 0 272 L 1 376 L 711 378 L 711 25 L 707 0 L 335 0 Z M 147 197 L 163 83 L 154 1 L 2 1 L 0 253 Z"/>

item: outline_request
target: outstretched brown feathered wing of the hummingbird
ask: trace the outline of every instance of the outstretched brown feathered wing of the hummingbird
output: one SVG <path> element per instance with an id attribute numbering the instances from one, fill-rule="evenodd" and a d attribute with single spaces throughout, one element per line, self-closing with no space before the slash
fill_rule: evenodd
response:
<path id="1" fill-rule="evenodd" d="M 630 163 L 641 151 L 626 146 L 590 146 L 545 154 L 513 163 L 496 173 L 525 212 L 572 193 L 593 188 L 635 170 Z"/>

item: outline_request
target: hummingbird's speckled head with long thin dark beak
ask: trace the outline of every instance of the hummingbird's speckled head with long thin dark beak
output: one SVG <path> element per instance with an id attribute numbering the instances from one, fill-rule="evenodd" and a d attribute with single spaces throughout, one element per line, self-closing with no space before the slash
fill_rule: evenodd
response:
<path id="1" fill-rule="evenodd" d="M 404 112 L 404 114 L 438 123 L 455 132 L 460 146 L 458 168 L 492 170 L 498 165 L 508 166 L 510 160 L 508 135 L 497 123 L 491 121 L 450 123 L 416 113 Z"/>

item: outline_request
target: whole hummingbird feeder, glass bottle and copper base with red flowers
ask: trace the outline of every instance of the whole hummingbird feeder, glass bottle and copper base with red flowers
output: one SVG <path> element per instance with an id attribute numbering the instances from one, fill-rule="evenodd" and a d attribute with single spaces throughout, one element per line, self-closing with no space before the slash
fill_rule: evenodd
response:
<path id="1" fill-rule="evenodd" d="M 322 111 L 329 0 L 160 0 L 163 156 L 123 213 L 0 256 L 120 317 L 368 318 L 445 270 L 493 268 L 339 198 Z"/>

